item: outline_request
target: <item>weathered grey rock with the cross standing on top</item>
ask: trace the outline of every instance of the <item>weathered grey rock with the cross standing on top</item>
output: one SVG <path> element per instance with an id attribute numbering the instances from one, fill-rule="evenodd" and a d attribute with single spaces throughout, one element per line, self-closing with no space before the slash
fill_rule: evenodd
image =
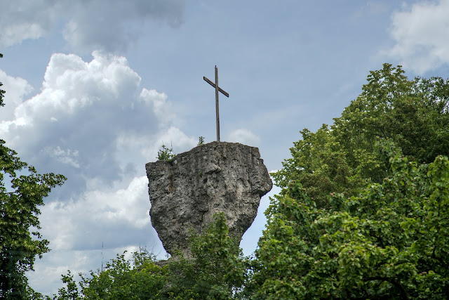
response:
<path id="1" fill-rule="evenodd" d="M 145 167 L 149 214 L 170 254 L 186 249 L 189 229 L 202 233 L 217 211 L 225 213 L 229 233 L 241 238 L 255 219 L 260 197 L 273 186 L 259 149 L 240 143 L 207 143 L 171 162 Z"/>

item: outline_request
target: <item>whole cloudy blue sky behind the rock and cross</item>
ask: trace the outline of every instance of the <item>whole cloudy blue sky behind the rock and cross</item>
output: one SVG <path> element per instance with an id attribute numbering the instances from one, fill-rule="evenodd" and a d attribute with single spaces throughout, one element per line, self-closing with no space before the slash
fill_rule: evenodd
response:
<path id="1" fill-rule="evenodd" d="M 96 270 L 140 246 L 165 252 L 149 219 L 145 163 L 215 136 L 260 148 L 281 168 L 288 148 L 332 123 L 370 70 L 449 77 L 449 0 L 0 0 L 0 138 L 40 173 L 64 174 L 42 208 L 51 252 L 29 280 Z M 278 193 L 274 188 L 270 195 Z M 250 254 L 259 214 L 241 247 Z"/>

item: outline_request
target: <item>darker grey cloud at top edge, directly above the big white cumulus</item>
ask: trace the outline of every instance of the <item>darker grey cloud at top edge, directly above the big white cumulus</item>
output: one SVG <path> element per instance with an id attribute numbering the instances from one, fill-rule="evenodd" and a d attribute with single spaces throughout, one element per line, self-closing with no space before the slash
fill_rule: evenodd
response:
<path id="1" fill-rule="evenodd" d="M 74 8 L 64 30 L 65 39 L 75 48 L 123 50 L 142 34 L 148 19 L 163 20 L 172 27 L 182 24 L 185 1 L 88 1 Z"/>

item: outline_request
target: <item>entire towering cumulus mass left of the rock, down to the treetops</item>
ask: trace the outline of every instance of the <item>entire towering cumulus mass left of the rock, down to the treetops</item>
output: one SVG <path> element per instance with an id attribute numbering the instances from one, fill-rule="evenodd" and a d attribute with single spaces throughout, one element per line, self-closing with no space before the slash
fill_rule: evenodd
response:
<path id="1" fill-rule="evenodd" d="M 11 97 L 0 119 L 6 145 L 39 173 L 68 178 L 46 198 L 39 218 L 51 249 L 67 259 L 64 270 L 87 273 L 83 268 L 92 261 L 79 260 L 102 242 L 107 251 L 141 244 L 163 252 L 150 223 L 145 163 L 156 160 L 162 141 L 177 152 L 196 145 L 196 138 L 173 125 L 168 96 L 142 88 L 126 58 L 98 51 L 90 62 L 53 54 L 39 93 L 28 99 L 25 79 L 1 72 L 0 79 Z M 58 262 L 50 252 L 30 276 L 58 282 Z"/>

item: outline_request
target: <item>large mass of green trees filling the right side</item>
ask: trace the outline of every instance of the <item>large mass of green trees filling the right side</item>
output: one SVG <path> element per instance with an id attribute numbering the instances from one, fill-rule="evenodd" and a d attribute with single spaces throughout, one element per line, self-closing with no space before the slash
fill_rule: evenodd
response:
<path id="1" fill-rule="evenodd" d="M 403 73 L 384 64 L 330 128 L 301 131 L 248 297 L 449 297 L 449 83 Z"/>

